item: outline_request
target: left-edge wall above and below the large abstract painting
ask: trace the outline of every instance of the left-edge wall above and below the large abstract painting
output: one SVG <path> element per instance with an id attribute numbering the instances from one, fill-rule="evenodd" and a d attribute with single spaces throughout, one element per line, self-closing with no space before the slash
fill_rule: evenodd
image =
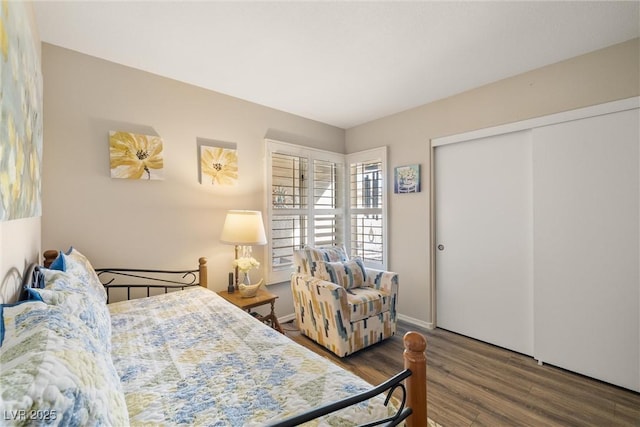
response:
<path id="1" fill-rule="evenodd" d="M 15 4 L 13 7 L 22 7 Z M 40 54 L 40 35 L 31 3 L 24 3 L 29 15 L 34 45 Z M 25 267 L 39 261 L 41 217 L 0 221 L 0 302 L 13 302 Z"/>

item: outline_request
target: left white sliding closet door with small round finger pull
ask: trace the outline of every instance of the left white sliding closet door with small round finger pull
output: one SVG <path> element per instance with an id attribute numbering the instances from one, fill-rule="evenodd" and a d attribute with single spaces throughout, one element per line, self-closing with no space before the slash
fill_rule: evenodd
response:
<path id="1" fill-rule="evenodd" d="M 438 326 L 532 355 L 531 131 L 434 156 Z"/>

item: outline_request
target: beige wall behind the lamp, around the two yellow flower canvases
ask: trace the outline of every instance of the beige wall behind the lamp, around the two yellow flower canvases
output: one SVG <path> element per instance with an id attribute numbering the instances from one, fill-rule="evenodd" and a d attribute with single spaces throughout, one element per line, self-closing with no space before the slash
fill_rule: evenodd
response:
<path id="1" fill-rule="evenodd" d="M 209 287 L 226 289 L 221 227 L 228 209 L 263 210 L 264 138 L 344 150 L 342 129 L 237 98 L 49 44 L 42 62 L 42 245 L 74 245 L 96 267 L 195 268 L 206 256 Z M 165 179 L 111 179 L 110 130 L 162 137 Z M 198 183 L 198 137 L 237 144 L 237 186 Z M 289 285 L 270 289 L 278 314 L 293 313 Z"/>

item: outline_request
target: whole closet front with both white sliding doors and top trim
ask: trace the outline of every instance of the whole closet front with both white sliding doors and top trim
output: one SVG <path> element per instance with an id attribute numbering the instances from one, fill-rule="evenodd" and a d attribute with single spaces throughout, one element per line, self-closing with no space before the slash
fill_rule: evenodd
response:
<path id="1" fill-rule="evenodd" d="M 639 103 L 431 141 L 438 327 L 640 391 Z"/>

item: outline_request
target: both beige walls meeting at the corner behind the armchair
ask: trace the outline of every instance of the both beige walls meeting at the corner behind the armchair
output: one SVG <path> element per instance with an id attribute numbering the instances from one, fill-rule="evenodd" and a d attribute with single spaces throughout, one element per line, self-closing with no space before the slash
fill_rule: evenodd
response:
<path id="1" fill-rule="evenodd" d="M 218 242 L 220 228 L 227 209 L 263 208 L 264 137 L 348 153 L 387 145 L 390 169 L 423 167 L 421 193 L 390 194 L 389 260 L 400 273 L 399 312 L 426 324 L 430 139 L 637 96 L 639 49 L 637 39 L 622 43 L 349 129 L 345 136 L 322 123 L 44 44 L 42 246 L 75 245 L 96 266 L 182 268 L 207 256 L 210 287 L 223 289 L 232 248 Z M 165 180 L 111 179 L 109 130 L 160 135 Z M 237 144 L 236 187 L 198 184 L 197 137 Z M 280 296 L 278 314 L 292 313 L 288 285 L 271 289 Z"/>

